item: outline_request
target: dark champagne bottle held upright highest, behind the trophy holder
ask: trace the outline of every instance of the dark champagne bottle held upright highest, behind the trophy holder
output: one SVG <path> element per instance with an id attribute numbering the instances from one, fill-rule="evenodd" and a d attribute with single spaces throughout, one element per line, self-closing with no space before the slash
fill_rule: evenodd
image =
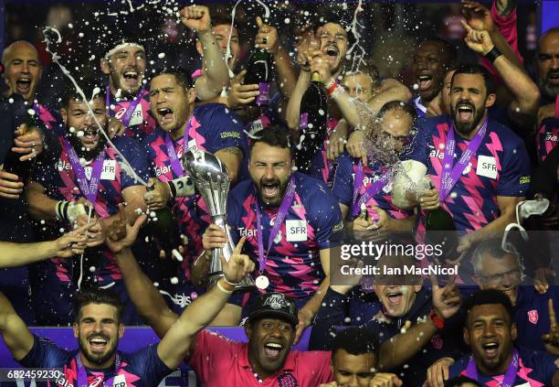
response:
<path id="1" fill-rule="evenodd" d="M 268 24 L 268 20 L 264 20 Z M 269 104 L 269 84 L 272 78 L 272 59 L 269 52 L 263 48 L 256 48 L 248 59 L 245 84 L 258 84 L 260 94 L 252 105 L 267 106 Z"/>

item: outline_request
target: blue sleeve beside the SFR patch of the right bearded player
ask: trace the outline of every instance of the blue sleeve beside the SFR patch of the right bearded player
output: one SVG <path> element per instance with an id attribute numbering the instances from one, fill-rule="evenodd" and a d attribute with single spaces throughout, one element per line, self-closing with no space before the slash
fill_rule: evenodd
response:
<path id="1" fill-rule="evenodd" d="M 498 196 L 522 197 L 530 187 L 530 157 L 526 147 L 518 142 L 510 151 L 504 152 L 501 178 L 497 185 Z"/>

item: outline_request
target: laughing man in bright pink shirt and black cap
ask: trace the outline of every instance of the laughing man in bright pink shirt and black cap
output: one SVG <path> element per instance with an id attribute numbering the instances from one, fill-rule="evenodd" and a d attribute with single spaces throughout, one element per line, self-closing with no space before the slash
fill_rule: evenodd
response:
<path id="1" fill-rule="evenodd" d="M 130 226 L 126 229 L 120 232 L 125 237 L 120 242 L 119 251 L 115 252 L 122 279 L 138 312 L 163 338 L 179 315 L 167 306 L 163 296 L 143 274 L 129 248 L 136 239 L 137 230 Z M 115 235 L 119 233 L 111 232 L 110 238 Z M 243 237 L 237 243 L 233 257 L 247 257 L 240 253 L 244 243 Z M 243 262 L 247 265 L 244 274 L 254 270 L 254 263 Z M 332 381 L 331 352 L 291 350 L 299 323 L 298 310 L 292 299 L 280 293 L 260 295 L 255 299 L 245 325 L 248 343 L 203 330 L 225 306 L 235 285 L 221 279 L 209 292 L 212 296 L 206 294 L 202 296 L 202 303 L 200 297 L 187 308 L 193 311 L 189 315 L 192 316 L 189 327 L 192 334 L 187 338 L 189 350 L 185 361 L 195 370 L 203 386 L 316 387 Z"/>

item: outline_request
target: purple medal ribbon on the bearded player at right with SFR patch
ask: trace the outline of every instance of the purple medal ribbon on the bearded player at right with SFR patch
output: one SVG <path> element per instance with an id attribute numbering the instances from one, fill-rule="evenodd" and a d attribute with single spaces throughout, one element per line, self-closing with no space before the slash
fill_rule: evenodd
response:
<path id="1" fill-rule="evenodd" d="M 460 156 L 458 163 L 456 166 L 452 166 L 454 162 L 454 149 L 456 148 L 456 141 L 454 139 L 454 124 L 450 124 L 450 128 L 447 134 L 447 145 L 445 147 L 445 157 L 443 158 L 443 171 L 440 181 L 440 191 L 439 191 L 439 199 L 441 202 L 447 199 L 448 194 L 454 188 L 456 183 L 458 183 L 460 175 L 468 166 L 469 160 L 472 155 L 478 151 L 480 148 L 481 141 L 485 137 L 485 133 L 487 132 L 487 124 L 488 119 L 486 118 L 483 124 L 480 127 L 480 130 L 474 138 L 471 139 L 469 142 L 468 148 L 462 153 Z"/>

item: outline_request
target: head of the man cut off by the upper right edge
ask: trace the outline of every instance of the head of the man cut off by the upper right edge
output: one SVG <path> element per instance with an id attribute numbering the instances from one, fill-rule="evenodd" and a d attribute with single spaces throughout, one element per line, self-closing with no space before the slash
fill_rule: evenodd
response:
<path id="1" fill-rule="evenodd" d="M 559 95 L 559 27 L 547 30 L 538 40 L 536 75 L 543 95 L 550 99 Z"/>

